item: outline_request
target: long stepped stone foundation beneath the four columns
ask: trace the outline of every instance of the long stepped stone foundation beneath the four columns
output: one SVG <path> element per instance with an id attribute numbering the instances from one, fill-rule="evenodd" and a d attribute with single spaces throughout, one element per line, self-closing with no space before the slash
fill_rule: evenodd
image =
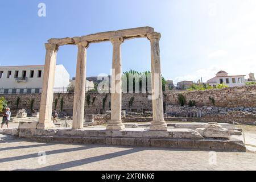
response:
<path id="1" fill-rule="evenodd" d="M 105 128 L 71 129 L 5 129 L 0 133 L 17 135 L 20 138 L 38 142 L 68 142 L 85 144 L 108 144 L 113 146 L 166 147 L 193 150 L 239 151 L 246 147 L 241 140 L 213 139 L 202 137 L 190 129 L 168 129 L 168 131 L 150 131 L 147 129 L 125 129 L 122 131 Z"/>

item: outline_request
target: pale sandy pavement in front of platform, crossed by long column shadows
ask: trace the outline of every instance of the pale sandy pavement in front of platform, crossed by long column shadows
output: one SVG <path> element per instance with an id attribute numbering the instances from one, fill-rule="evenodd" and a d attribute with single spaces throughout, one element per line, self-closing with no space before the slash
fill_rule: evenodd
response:
<path id="1" fill-rule="evenodd" d="M 0 170 L 256 170 L 256 152 L 38 143 L 0 137 Z"/>

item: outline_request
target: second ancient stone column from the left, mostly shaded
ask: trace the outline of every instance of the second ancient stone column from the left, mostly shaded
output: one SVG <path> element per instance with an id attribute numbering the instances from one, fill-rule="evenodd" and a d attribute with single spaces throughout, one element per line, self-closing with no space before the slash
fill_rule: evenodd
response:
<path id="1" fill-rule="evenodd" d="M 87 42 L 77 43 L 77 64 L 76 64 L 76 84 L 73 105 L 73 125 L 72 129 L 82 129 L 84 127 L 84 102 L 86 84 L 86 48 Z"/>

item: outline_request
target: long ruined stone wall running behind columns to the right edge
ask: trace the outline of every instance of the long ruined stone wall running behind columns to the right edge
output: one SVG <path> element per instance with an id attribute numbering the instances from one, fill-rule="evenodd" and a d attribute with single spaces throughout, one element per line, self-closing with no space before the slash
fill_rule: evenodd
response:
<path id="1" fill-rule="evenodd" d="M 179 106 L 177 101 L 178 94 L 183 94 L 187 102 L 195 100 L 196 106 Z M 90 96 L 90 104 L 86 101 Z M 9 107 L 13 114 L 16 114 L 16 99 L 20 98 L 19 109 L 26 109 L 30 113 L 31 101 L 34 100 L 33 109 L 39 110 L 40 94 L 6 94 L 1 95 L 9 101 Z M 1 97 L 0 96 L 0 97 Z M 95 100 L 93 102 L 93 98 Z M 106 97 L 105 108 L 103 107 L 103 99 Z M 129 106 L 131 97 L 134 97 L 133 104 Z M 214 98 L 215 105 L 210 102 L 209 97 Z M 56 109 L 60 111 L 60 101 L 63 98 L 63 110 L 68 114 L 73 113 L 73 94 L 54 94 L 53 109 L 55 100 L 57 99 Z M 110 94 L 86 93 L 85 95 L 85 114 L 101 114 L 110 110 L 109 102 Z M 164 105 L 167 116 L 175 117 L 199 118 L 199 121 L 212 122 L 241 122 L 254 123 L 256 121 L 256 85 L 242 86 L 225 89 L 214 89 L 205 91 L 167 91 L 164 92 Z M 93 103 L 92 103 L 93 102 Z M 148 94 L 122 94 L 122 109 L 126 111 L 151 111 L 152 101 L 148 100 Z M 200 111 L 200 114 L 199 114 Z M 201 115 L 201 118 L 199 117 Z M 129 117 L 127 117 L 129 118 Z M 145 117 L 142 117 L 144 121 Z M 204 119 L 204 120 L 203 120 Z M 133 119 L 131 119 L 133 120 Z M 147 120 L 147 119 L 146 119 Z M 127 119 L 127 122 L 130 120 Z"/>

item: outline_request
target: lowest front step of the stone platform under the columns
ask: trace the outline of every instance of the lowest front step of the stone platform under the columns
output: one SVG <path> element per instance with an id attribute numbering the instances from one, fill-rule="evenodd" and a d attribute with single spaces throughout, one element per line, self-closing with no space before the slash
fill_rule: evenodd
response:
<path id="1" fill-rule="evenodd" d="M 110 137 L 51 137 L 35 136 L 28 138 L 37 142 L 67 142 L 83 144 L 106 144 L 113 146 L 164 147 L 208 151 L 246 152 L 241 140 L 216 139 L 164 139 L 164 138 L 110 138 Z"/>

